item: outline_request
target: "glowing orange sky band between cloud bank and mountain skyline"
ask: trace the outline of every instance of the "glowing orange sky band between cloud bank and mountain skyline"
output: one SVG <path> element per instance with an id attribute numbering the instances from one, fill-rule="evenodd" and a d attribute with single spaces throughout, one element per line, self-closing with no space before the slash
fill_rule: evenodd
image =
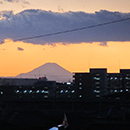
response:
<path id="1" fill-rule="evenodd" d="M 17 47 L 24 50 L 18 51 Z M 130 69 L 130 42 L 33 45 L 8 41 L 0 45 L 0 76 L 15 76 L 47 62 L 55 62 L 71 72 L 88 72 L 90 68 Z"/>

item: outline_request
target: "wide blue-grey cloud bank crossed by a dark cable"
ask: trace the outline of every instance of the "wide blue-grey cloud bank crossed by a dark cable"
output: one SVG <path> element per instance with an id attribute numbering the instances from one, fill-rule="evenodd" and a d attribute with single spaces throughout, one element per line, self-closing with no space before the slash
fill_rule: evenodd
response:
<path id="1" fill-rule="evenodd" d="M 0 12 L 4 19 L 0 20 L 0 39 L 19 38 L 45 35 L 85 26 L 97 25 L 130 17 L 130 13 L 110 12 L 101 10 L 95 13 L 64 12 L 57 13 L 44 10 L 24 10 L 18 14 L 12 11 Z M 130 41 L 130 20 L 69 32 L 48 37 L 25 40 L 32 44 L 54 43 L 92 43 L 100 42 L 107 45 L 108 41 Z"/>

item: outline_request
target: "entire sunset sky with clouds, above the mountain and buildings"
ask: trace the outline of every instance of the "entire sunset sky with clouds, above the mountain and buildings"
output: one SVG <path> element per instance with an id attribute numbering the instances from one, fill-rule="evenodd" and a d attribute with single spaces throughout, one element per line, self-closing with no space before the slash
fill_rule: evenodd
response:
<path id="1" fill-rule="evenodd" d="M 0 76 L 47 62 L 70 72 L 130 69 L 130 20 L 24 39 L 130 18 L 129 5 L 129 0 L 0 0 Z"/>

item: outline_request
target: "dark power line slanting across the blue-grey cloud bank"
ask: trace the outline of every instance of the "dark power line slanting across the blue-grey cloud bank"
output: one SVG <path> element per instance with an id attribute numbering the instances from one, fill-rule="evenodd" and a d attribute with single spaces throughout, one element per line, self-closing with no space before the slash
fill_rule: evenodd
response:
<path id="1" fill-rule="evenodd" d="M 23 40 L 29 40 L 29 39 L 36 39 L 36 38 L 40 38 L 40 37 L 48 37 L 48 36 L 53 36 L 53 35 L 59 35 L 59 34 L 64 34 L 64 33 L 75 32 L 75 31 L 85 30 L 85 29 L 89 29 L 89 28 L 95 28 L 95 27 L 99 27 L 99 26 L 109 25 L 109 24 L 113 24 L 113 23 L 119 23 L 119 22 L 123 22 L 123 21 L 126 21 L 126 20 L 130 20 L 130 17 L 125 18 L 125 19 L 119 19 L 119 20 L 115 20 L 115 21 L 105 22 L 105 23 L 101 23 L 101 24 L 85 26 L 85 27 L 81 27 L 81 28 L 75 28 L 75 29 L 70 29 L 70 30 L 65 30 L 65 31 L 59 31 L 59 32 L 54 32 L 54 33 L 32 36 L 32 37 L 14 39 L 13 41 L 23 41 Z M 0 41 L 0 43 L 3 43 L 3 41 Z"/>

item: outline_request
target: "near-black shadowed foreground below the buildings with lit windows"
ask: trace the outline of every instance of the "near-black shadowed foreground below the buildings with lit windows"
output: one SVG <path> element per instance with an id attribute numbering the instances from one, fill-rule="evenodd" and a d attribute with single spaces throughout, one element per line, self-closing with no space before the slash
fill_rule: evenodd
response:
<path id="1" fill-rule="evenodd" d="M 64 113 L 66 130 L 130 129 L 129 101 L 6 102 L 2 107 L 0 130 L 48 130 L 62 123 Z"/>

